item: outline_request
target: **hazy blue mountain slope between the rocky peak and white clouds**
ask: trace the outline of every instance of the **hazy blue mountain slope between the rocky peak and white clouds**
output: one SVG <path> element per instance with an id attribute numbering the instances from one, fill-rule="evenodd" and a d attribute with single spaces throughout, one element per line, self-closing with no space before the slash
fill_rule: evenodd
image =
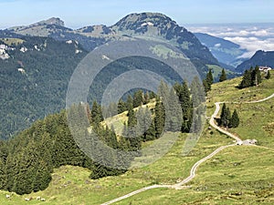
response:
<path id="1" fill-rule="evenodd" d="M 213 56 L 222 64 L 237 67 L 237 65 L 245 60 L 239 57 L 247 52 L 247 50 L 240 48 L 239 45 L 231 41 L 203 33 L 195 33 L 195 36 L 203 45 L 209 48 Z"/>

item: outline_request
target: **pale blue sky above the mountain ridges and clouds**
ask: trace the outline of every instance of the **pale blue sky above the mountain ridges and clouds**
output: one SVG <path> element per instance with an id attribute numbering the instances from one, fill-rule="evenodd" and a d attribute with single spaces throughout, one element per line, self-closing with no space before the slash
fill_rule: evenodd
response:
<path id="1" fill-rule="evenodd" d="M 0 28 L 59 17 L 71 28 L 111 26 L 131 13 L 160 12 L 180 26 L 263 23 L 274 19 L 272 0 L 0 0 Z"/>

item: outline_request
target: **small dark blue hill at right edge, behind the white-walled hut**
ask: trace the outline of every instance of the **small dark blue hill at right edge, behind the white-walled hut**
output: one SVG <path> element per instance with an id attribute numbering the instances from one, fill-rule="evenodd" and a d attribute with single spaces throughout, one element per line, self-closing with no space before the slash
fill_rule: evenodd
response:
<path id="1" fill-rule="evenodd" d="M 237 66 L 237 72 L 244 72 L 250 67 L 268 66 L 274 67 L 274 51 L 258 50 L 254 56 Z"/>

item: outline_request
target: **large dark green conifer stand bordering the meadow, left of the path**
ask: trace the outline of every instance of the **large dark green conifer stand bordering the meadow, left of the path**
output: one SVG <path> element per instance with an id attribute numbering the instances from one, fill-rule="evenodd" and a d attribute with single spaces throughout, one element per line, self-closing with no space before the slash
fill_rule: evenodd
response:
<path id="1" fill-rule="evenodd" d="M 201 130 L 205 95 L 198 77 L 194 78 L 190 87 L 186 81 L 175 83 L 174 87 L 161 82 L 158 93 L 156 96 L 138 90 L 126 102 L 119 101 L 119 112 L 126 111 L 128 115 L 119 137 L 114 128 L 103 125 L 103 108 L 94 101 L 92 108 L 82 103 L 74 105 L 67 111 L 37 120 L 15 138 L 0 141 L 0 189 L 18 194 L 45 190 L 53 169 L 63 165 L 90 169 L 90 179 L 119 175 L 130 167 L 133 158 L 142 155 L 142 142 L 161 138 L 164 131 Z M 154 108 L 137 108 L 152 100 L 155 101 Z M 75 118 L 76 124 L 72 129 L 71 126 L 69 128 L 68 118 Z M 87 118 L 87 121 L 78 120 L 81 118 Z M 111 168 L 103 162 L 120 163 L 121 156 L 113 151 L 94 150 L 100 160 L 93 161 L 79 149 L 73 138 L 75 134 L 84 146 L 92 143 L 92 148 L 97 149 L 96 144 L 103 141 L 112 149 L 135 151 L 137 154 L 122 159 L 123 169 Z M 94 138 L 95 135 L 98 138 Z"/>

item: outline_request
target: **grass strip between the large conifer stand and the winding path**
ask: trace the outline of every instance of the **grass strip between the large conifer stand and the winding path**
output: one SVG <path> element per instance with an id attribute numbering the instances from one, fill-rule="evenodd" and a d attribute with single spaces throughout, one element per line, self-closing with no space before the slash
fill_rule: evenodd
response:
<path id="1" fill-rule="evenodd" d="M 216 131 L 210 134 L 210 130 L 206 130 L 195 149 L 188 156 L 183 156 L 182 148 L 185 138 L 186 135 L 181 135 L 174 147 L 162 159 L 141 169 L 132 169 L 117 177 L 92 180 L 89 179 L 88 169 L 71 166 L 55 169 L 53 180 L 47 190 L 23 196 L 14 194 L 11 200 L 6 200 L 6 192 L 0 191 L 0 204 L 22 204 L 25 198 L 36 199 L 37 196 L 45 198 L 46 201 L 31 200 L 27 203 L 100 204 L 145 186 L 161 183 L 173 184 L 178 179 L 184 179 L 189 175 L 195 161 L 231 141 Z"/>

